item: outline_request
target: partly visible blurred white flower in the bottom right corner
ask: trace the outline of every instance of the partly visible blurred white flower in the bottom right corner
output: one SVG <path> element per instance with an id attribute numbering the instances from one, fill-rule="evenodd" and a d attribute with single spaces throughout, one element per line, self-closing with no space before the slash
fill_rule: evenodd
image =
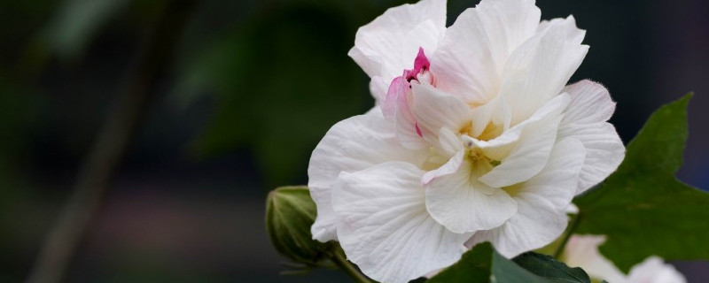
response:
<path id="1" fill-rule="evenodd" d="M 686 283 L 682 273 L 665 264 L 662 258 L 650 256 L 630 268 L 630 274 L 620 272 L 610 260 L 598 252 L 605 236 L 573 235 L 564 249 L 564 262 L 580 266 L 591 278 L 612 283 Z"/>

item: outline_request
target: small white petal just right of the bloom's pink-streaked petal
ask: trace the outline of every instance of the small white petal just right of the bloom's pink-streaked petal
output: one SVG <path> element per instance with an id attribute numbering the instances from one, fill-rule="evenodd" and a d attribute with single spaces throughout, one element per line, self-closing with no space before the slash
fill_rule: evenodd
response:
<path id="1" fill-rule="evenodd" d="M 470 126 L 471 108 L 456 96 L 450 96 L 431 85 L 413 84 L 412 112 L 421 130 L 438 133 L 441 127 L 454 132 Z"/>

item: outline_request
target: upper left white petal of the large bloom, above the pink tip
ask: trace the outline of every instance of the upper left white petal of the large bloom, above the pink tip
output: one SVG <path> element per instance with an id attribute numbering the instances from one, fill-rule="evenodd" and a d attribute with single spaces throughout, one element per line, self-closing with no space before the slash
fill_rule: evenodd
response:
<path id="1" fill-rule="evenodd" d="M 413 67 L 419 47 L 436 50 L 445 25 L 445 0 L 393 7 L 357 30 L 348 55 L 370 77 L 391 81 Z"/>

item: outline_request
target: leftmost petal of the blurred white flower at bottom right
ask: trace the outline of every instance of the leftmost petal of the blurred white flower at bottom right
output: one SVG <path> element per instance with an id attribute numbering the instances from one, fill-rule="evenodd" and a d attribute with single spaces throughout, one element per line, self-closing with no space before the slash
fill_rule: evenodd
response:
<path id="1" fill-rule="evenodd" d="M 564 262 L 571 267 L 580 267 L 594 279 L 612 283 L 628 283 L 623 272 L 598 252 L 605 236 L 573 235 L 564 249 Z"/>

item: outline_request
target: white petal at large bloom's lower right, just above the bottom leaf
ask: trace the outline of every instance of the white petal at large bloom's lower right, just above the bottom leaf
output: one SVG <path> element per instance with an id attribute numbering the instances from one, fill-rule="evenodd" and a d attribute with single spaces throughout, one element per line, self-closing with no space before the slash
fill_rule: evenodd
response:
<path id="1" fill-rule="evenodd" d="M 583 157 L 579 141 L 557 143 L 544 170 L 512 189 L 517 213 L 503 226 L 475 233 L 466 245 L 490 241 L 500 254 L 511 258 L 556 240 L 567 225 L 565 208 L 575 193 Z"/>

